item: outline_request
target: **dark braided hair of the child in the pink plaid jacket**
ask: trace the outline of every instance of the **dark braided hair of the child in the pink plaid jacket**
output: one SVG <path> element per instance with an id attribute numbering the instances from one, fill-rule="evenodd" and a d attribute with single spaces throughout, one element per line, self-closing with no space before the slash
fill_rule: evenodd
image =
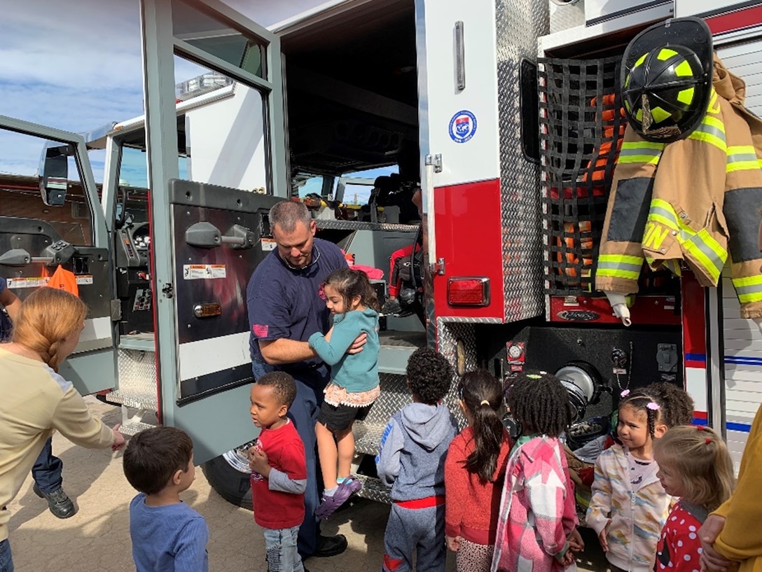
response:
<path id="1" fill-rule="evenodd" d="M 561 380 L 546 372 L 522 373 L 507 389 L 507 405 L 523 433 L 557 437 L 571 424 L 571 406 Z"/>

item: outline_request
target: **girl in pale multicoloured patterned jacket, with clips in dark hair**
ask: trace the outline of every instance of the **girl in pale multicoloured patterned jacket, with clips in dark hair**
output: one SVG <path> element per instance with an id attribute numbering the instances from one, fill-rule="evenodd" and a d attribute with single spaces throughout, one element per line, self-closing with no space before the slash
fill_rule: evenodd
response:
<path id="1" fill-rule="evenodd" d="M 661 527 L 671 506 L 656 473 L 653 447 L 667 433 L 668 411 L 643 389 L 622 391 L 620 443 L 595 462 L 586 522 L 597 532 L 611 572 L 652 570 Z"/>

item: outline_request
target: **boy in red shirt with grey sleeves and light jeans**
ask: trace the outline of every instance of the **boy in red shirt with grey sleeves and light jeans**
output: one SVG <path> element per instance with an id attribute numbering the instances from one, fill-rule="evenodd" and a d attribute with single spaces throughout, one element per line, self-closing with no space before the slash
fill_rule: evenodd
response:
<path id="1" fill-rule="evenodd" d="M 296 537 L 304 520 L 307 464 L 304 443 L 286 417 L 294 398 L 296 383 L 286 372 L 267 373 L 251 386 L 251 420 L 261 427 L 248 449 L 251 497 L 270 572 L 304 572 Z"/>

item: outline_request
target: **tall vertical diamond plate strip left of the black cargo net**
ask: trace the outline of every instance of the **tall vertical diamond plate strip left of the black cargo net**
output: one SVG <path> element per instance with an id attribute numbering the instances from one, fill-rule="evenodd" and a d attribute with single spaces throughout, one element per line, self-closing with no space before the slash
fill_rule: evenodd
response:
<path id="1" fill-rule="evenodd" d="M 495 31 L 500 117 L 500 185 L 504 319 L 542 315 L 543 235 L 539 165 L 521 147 L 520 62 L 536 61 L 537 38 L 548 34 L 547 0 L 497 0 Z"/>

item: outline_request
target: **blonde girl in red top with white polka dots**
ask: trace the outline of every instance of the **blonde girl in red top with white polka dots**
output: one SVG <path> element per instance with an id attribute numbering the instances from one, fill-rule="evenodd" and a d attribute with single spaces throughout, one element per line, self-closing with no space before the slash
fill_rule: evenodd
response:
<path id="1" fill-rule="evenodd" d="M 674 427 L 655 443 L 654 457 L 664 491 L 680 497 L 661 529 L 655 570 L 699 570 L 703 551 L 698 531 L 709 513 L 730 498 L 735 484 L 728 447 L 709 427 Z"/>

